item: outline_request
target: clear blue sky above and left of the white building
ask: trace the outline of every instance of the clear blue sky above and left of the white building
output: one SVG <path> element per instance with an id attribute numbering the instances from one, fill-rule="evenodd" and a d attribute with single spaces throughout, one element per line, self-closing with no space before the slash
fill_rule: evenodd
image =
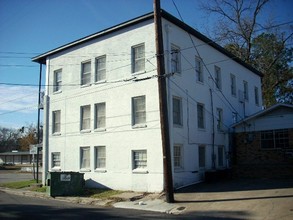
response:
<path id="1" fill-rule="evenodd" d="M 213 18 L 198 0 L 174 2 L 184 22 L 209 34 Z M 161 6 L 179 17 L 172 0 Z M 293 20 L 292 9 L 291 0 L 273 0 L 266 14 L 282 23 Z M 153 0 L 0 0 L 0 126 L 37 122 L 39 65 L 32 57 L 152 10 Z"/>

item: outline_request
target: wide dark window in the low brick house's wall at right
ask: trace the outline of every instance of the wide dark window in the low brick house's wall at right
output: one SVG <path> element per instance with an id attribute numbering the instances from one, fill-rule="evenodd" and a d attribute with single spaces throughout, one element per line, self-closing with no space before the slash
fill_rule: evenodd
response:
<path id="1" fill-rule="evenodd" d="M 261 148 L 263 149 L 289 148 L 288 129 L 262 131 L 261 132 Z"/>

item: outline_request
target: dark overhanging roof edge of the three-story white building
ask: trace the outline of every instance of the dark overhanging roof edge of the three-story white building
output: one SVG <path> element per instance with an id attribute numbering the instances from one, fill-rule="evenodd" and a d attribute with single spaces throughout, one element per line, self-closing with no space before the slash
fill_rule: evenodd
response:
<path id="1" fill-rule="evenodd" d="M 166 20 L 170 21 L 171 23 L 177 25 L 178 27 L 182 28 L 183 30 L 185 30 L 186 32 L 192 34 L 193 36 L 195 36 L 196 38 L 200 39 L 201 41 L 209 44 L 211 47 L 215 48 L 216 50 L 220 51 L 221 53 L 225 54 L 226 56 L 228 56 L 229 58 L 233 59 L 234 61 L 236 61 L 237 63 L 241 64 L 242 66 L 246 67 L 247 69 L 249 69 L 250 71 L 254 72 L 255 74 L 259 75 L 259 76 L 263 76 L 263 74 L 261 72 L 259 72 L 258 70 L 256 70 L 255 68 L 253 68 L 251 65 L 245 63 L 244 61 L 242 61 L 241 59 L 235 57 L 235 55 L 233 55 L 232 53 L 230 53 L 229 51 L 227 51 L 226 49 L 224 49 L 223 47 L 221 47 L 219 44 L 215 43 L 214 41 L 212 41 L 211 39 L 209 39 L 208 37 L 206 37 L 205 35 L 201 34 L 200 32 L 196 31 L 195 29 L 193 29 L 192 27 L 190 27 L 189 25 L 185 24 L 184 22 L 182 22 L 181 20 L 179 20 L 178 18 L 174 17 L 173 15 L 169 14 L 168 12 L 161 10 L 161 15 L 163 18 L 165 18 Z M 71 43 L 65 44 L 63 46 L 57 47 L 53 50 L 50 50 L 48 52 L 45 52 L 41 55 L 38 55 L 36 57 L 32 58 L 33 62 L 37 62 L 40 64 L 46 64 L 46 59 L 48 56 L 54 55 L 58 52 L 61 52 L 63 50 L 72 48 L 74 46 L 80 45 L 82 43 L 88 42 L 90 40 L 105 36 L 107 34 L 113 33 L 115 31 L 121 30 L 123 28 L 147 21 L 147 20 L 151 20 L 154 19 L 154 13 L 148 13 L 145 15 L 142 15 L 140 17 L 134 18 L 132 20 L 120 23 L 116 26 L 104 29 L 102 31 L 99 31 L 97 33 L 94 33 L 92 35 L 83 37 L 81 39 L 78 39 L 76 41 L 73 41 Z"/>

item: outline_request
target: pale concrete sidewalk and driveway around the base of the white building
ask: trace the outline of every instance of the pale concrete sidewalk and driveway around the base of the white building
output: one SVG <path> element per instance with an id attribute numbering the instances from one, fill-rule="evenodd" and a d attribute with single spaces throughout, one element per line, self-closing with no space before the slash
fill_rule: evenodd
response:
<path id="1" fill-rule="evenodd" d="M 0 188 L 7 193 L 66 202 L 113 206 L 194 216 L 202 219 L 293 219 L 293 179 L 233 180 L 200 183 L 176 191 L 175 203 L 160 194 L 125 192 L 106 200 L 86 197 L 55 197 L 27 190 Z"/>

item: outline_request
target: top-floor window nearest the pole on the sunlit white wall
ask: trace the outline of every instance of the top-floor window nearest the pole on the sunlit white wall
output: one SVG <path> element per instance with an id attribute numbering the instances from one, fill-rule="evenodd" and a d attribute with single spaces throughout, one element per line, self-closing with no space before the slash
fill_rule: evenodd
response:
<path id="1" fill-rule="evenodd" d="M 145 70 L 144 44 L 132 47 L 132 73 Z"/>

